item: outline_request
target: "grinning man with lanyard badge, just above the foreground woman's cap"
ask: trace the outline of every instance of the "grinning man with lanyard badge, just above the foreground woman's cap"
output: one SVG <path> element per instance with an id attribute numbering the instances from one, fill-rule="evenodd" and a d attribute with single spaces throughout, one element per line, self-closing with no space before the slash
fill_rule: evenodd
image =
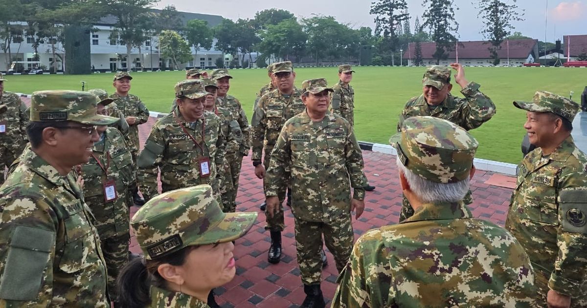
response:
<path id="1" fill-rule="evenodd" d="M 222 204 L 217 168 L 225 164 L 225 141 L 220 118 L 204 110 L 208 93 L 201 80 L 178 82 L 175 90 L 176 110 L 157 120 L 137 161 L 141 192 L 147 200 L 157 195 L 160 170 L 163 192 L 208 184 Z"/>

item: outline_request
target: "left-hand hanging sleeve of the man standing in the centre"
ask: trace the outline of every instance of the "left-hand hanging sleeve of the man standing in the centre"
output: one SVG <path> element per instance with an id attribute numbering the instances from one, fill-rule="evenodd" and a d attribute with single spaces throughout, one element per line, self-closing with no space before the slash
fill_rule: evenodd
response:
<path id="1" fill-rule="evenodd" d="M 291 161 L 291 147 L 289 146 L 288 126 L 284 126 L 279 133 L 277 143 L 271 152 L 269 168 L 267 168 L 265 183 L 266 197 L 278 196 L 285 192 L 289 180 L 289 162 Z"/>

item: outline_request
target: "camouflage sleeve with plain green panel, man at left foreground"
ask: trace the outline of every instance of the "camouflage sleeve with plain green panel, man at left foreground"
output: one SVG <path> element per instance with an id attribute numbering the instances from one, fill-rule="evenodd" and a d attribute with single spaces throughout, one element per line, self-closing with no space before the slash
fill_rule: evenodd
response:
<path id="1" fill-rule="evenodd" d="M 6 191 L 5 191 L 6 192 Z M 48 307 L 53 297 L 55 213 L 18 191 L 0 199 L 0 306 Z"/>

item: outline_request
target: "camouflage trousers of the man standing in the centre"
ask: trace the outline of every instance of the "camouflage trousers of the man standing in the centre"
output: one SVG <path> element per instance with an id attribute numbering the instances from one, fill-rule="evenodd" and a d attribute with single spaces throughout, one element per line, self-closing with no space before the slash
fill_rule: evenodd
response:
<path id="1" fill-rule="evenodd" d="M 340 272 L 345 268 L 355 239 L 350 214 L 328 223 L 297 218 L 294 221 L 298 265 L 304 285 L 319 284 L 322 280 L 322 235 L 326 247 L 334 256 L 336 269 Z"/>

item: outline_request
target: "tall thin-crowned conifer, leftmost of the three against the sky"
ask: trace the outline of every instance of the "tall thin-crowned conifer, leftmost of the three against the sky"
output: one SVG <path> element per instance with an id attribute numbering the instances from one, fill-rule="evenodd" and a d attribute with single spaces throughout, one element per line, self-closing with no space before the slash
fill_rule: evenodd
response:
<path id="1" fill-rule="evenodd" d="M 382 35 L 383 46 L 392 55 L 399 49 L 399 32 L 402 31 L 402 22 L 409 20 L 406 0 L 376 0 L 371 4 L 370 14 L 375 17 L 375 34 Z M 383 50 L 380 50 L 380 52 Z"/>

